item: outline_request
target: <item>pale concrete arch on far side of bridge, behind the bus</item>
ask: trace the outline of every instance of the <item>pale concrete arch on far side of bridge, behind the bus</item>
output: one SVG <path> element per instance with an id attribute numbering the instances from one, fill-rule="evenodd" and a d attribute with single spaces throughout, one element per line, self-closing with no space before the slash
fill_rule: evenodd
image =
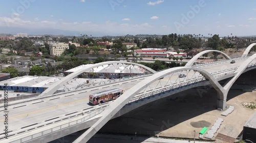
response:
<path id="1" fill-rule="evenodd" d="M 54 94 L 60 87 L 62 87 L 65 83 L 67 83 L 68 81 L 70 81 L 72 78 L 76 77 L 77 75 L 83 73 L 84 71 L 88 71 L 91 70 L 93 68 L 97 68 L 100 66 L 104 66 L 104 65 L 110 65 L 110 64 L 130 64 L 130 65 L 136 65 L 139 67 L 142 67 L 144 69 L 146 69 L 149 72 L 152 73 L 157 73 L 155 70 L 148 68 L 144 65 L 138 64 L 138 63 L 132 63 L 132 62 L 126 62 L 126 61 L 109 61 L 109 62 L 102 62 L 102 63 L 97 63 L 97 64 L 93 64 L 88 66 L 87 68 L 78 70 L 76 72 L 73 72 L 69 75 L 67 75 L 66 77 L 62 78 L 61 80 L 59 80 L 55 86 L 52 86 L 50 88 L 48 88 L 47 90 L 45 90 L 43 93 L 40 94 L 40 96 L 47 96 L 47 95 L 52 95 Z"/>

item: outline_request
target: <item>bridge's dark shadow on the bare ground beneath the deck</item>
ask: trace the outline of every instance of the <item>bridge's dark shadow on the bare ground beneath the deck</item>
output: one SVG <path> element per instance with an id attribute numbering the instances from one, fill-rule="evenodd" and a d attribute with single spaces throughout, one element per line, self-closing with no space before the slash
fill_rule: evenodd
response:
<path id="1" fill-rule="evenodd" d="M 198 92 L 198 89 L 190 89 L 141 106 L 109 121 L 99 132 L 133 135 L 136 132 L 152 136 L 203 113 L 216 110 L 217 92 L 210 89 L 202 96 L 199 96 Z M 230 92 L 228 100 L 242 93 L 244 92 Z"/>

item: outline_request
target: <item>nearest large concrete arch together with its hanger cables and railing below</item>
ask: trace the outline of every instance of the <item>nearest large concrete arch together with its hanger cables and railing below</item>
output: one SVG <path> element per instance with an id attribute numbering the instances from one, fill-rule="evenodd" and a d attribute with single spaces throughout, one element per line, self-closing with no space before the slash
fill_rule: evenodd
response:
<path id="1" fill-rule="evenodd" d="M 187 74 L 187 76 L 179 79 L 179 74 Z M 171 78 L 172 81 L 170 81 Z M 162 80 L 164 79 L 165 83 L 162 82 Z M 169 88 L 169 90 L 172 90 L 172 87 L 181 87 L 185 86 L 187 83 L 193 84 L 193 82 L 198 82 L 205 79 L 209 80 L 210 84 L 212 84 L 217 92 L 224 92 L 224 89 L 214 76 L 199 68 L 177 67 L 155 73 L 154 75 L 142 80 L 131 89 L 127 90 L 122 96 L 112 102 L 109 107 L 106 108 L 104 112 L 102 112 L 102 117 L 91 128 L 89 128 L 80 137 L 78 137 L 74 142 L 87 142 L 97 131 L 99 131 L 100 128 L 102 128 L 109 120 L 111 120 L 126 103 L 128 103 L 134 97 L 140 98 L 141 94 L 144 92 L 149 94 L 153 92 L 161 93 L 166 91 L 165 88 Z M 169 81 L 170 83 L 168 83 Z M 151 87 L 150 85 L 153 82 L 157 83 L 157 86 Z"/>

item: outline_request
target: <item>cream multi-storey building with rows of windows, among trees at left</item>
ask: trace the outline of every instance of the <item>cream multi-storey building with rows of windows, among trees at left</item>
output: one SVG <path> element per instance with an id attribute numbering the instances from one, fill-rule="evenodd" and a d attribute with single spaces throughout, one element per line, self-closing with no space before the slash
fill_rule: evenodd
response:
<path id="1" fill-rule="evenodd" d="M 66 43 L 53 43 L 49 44 L 50 55 L 61 55 L 66 49 L 69 49 L 69 44 Z"/>

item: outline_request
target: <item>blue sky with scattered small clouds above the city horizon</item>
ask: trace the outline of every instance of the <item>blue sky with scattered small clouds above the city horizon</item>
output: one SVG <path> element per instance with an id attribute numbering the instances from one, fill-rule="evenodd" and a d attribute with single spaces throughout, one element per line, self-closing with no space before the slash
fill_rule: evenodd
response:
<path id="1" fill-rule="evenodd" d="M 16 33 L 62 30 L 94 36 L 256 35 L 255 0 L 13 0 L 0 5 L 0 33 L 15 28 Z"/>

